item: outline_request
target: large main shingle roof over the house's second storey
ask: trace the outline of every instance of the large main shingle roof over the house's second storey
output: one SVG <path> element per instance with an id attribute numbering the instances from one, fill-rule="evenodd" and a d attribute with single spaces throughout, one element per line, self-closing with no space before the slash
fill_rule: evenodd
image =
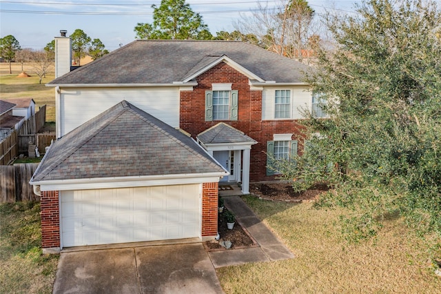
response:
<path id="1" fill-rule="evenodd" d="M 238 41 L 136 40 L 48 83 L 171 84 L 226 55 L 265 81 L 302 82 L 308 66 Z"/>

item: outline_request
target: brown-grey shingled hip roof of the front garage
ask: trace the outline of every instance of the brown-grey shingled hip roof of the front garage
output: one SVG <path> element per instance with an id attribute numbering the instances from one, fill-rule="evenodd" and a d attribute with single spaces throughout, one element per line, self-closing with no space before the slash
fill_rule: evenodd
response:
<path id="1" fill-rule="evenodd" d="M 127 101 L 54 141 L 32 182 L 225 173 L 196 141 Z"/>

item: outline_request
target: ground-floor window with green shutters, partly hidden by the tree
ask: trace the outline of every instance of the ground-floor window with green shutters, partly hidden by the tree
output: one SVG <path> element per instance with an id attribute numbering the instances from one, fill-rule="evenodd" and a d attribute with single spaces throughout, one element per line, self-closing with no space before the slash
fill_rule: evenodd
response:
<path id="1" fill-rule="evenodd" d="M 287 135 L 274 135 L 274 141 L 267 141 L 267 175 L 277 173 L 274 161 L 297 155 L 297 140 L 291 140 L 291 134 Z"/>

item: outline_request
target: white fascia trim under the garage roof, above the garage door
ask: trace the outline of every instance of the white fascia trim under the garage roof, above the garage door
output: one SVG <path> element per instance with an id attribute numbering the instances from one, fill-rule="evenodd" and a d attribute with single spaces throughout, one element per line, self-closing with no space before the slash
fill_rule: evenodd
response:
<path id="1" fill-rule="evenodd" d="M 181 184 L 201 184 L 218 182 L 220 177 L 229 173 L 198 173 L 181 175 L 153 175 L 139 177 L 101 177 L 92 179 L 63 179 L 42 182 L 30 182 L 40 185 L 42 191 L 51 190 L 85 190 L 102 188 L 127 188 L 142 186 L 167 186 Z"/>

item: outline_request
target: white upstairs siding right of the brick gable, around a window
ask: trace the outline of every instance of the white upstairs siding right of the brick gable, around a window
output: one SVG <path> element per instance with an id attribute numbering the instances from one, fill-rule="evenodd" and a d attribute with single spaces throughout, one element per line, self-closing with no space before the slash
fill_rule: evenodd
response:
<path id="1" fill-rule="evenodd" d="M 312 93 L 307 86 L 266 86 L 262 92 L 262 119 L 274 119 L 276 90 L 291 90 L 291 119 L 302 119 L 300 110 L 311 110 Z"/>

